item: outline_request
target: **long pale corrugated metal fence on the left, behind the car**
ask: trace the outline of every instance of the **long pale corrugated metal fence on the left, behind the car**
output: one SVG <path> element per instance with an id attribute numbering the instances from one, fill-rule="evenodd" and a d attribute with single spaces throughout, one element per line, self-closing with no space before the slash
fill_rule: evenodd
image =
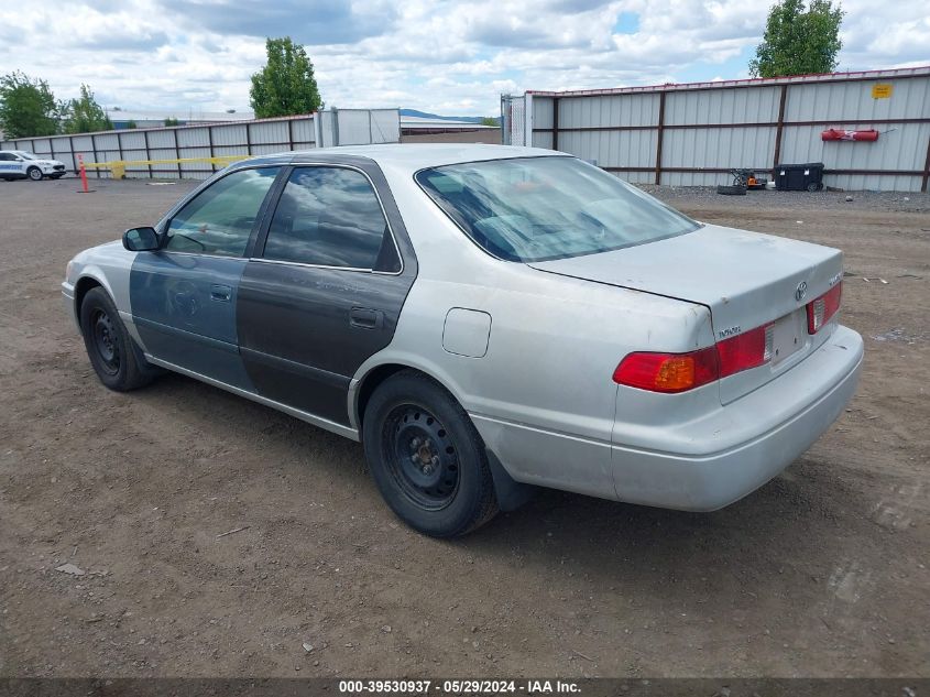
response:
<path id="1" fill-rule="evenodd" d="M 85 163 L 243 157 L 288 150 L 317 148 L 318 135 L 327 145 L 397 143 L 401 141 L 398 109 L 340 109 L 316 115 L 261 119 L 237 123 L 132 129 L 52 138 L 22 138 L 0 142 L 0 150 L 25 150 L 59 160 L 69 171 L 77 156 Z M 222 165 L 180 162 L 128 165 L 127 177 L 206 178 Z M 109 177 L 106 168 L 89 168 L 89 176 Z"/>

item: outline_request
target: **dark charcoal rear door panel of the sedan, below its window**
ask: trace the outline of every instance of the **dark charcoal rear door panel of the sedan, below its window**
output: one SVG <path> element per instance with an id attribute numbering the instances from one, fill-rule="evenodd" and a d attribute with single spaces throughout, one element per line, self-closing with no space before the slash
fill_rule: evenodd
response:
<path id="1" fill-rule="evenodd" d="M 251 261 L 238 294 L 242 358 L 259 394 L 349 424 L 349 381 L 394 336 L 413 274 Z"/>

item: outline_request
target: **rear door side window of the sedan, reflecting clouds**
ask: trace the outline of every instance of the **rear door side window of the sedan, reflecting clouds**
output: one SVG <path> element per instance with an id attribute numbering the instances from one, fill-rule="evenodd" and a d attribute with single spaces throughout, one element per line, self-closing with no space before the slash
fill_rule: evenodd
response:
<path id="1" fill-rule="evenodd" d="M 274 211 L 264 258 L 374 269 L 387 222 L 368 177 L 342 167 L 297 167 Z"/>

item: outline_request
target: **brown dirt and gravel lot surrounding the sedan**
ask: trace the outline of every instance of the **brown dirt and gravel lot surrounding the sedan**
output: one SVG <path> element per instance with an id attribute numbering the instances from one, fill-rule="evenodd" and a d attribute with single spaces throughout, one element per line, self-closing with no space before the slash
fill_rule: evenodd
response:
<path id="1" fill-rule="evenodd" d="M 543 492 L 437 542 L 357 444 L 180 377 L 97 381 L 65 263 L 190 186 L 0 184 L 0 675 L 930 675 L 927 196 L 661 190 L 845 250 L 858 395 L 723 511 Z"/>

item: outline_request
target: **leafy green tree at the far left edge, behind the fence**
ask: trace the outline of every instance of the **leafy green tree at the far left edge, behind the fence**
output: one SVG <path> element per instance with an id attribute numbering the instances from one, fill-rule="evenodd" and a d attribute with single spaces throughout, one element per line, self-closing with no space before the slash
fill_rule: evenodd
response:
<path id="1" fill-rule="evenodd" d="M 0 130 L 7 138 L 54 135 L 59 106 L 48 83 L 17 70 L 0 77 Z"/>

